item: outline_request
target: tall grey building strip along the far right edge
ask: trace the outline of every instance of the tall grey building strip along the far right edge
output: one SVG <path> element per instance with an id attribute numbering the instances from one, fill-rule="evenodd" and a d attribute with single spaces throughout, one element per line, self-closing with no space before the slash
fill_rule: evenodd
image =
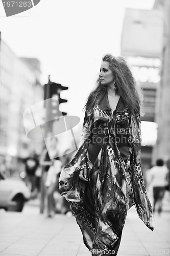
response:
<path id="1" fill-rule="evenodd" d="M 156 0 L 154 11 L 162 12 L 163 16 L 163 45 L 162 45 L 162 71 L 159 91 L 159 105 L 157 109 L 158 138 L 154 148 L 156 158 L 170 159 L 170 2 L 169 0 Z"/>

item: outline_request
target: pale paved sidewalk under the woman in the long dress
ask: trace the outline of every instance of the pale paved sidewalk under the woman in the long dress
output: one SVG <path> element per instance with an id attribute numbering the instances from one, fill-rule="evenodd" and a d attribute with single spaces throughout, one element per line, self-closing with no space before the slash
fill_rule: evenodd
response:
<path id="1" fill-rule="evenodd" d="M 170 204 L 170 203 L 169 203 Z M 151 231 L 132 207 L 128 211 L 119 255 L 170 255 L 170 206 L 155 214 Z M 0 256 L 90 256 L 74 217 L 0 211 Z"/>

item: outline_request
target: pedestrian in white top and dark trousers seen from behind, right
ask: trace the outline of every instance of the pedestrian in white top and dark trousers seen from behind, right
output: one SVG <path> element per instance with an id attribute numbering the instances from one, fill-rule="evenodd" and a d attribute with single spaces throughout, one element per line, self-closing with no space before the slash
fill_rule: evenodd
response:
<path id="1" fill-rule="evenodd" d="M 149 170 L 150 181 L 148 186 L 153 186 L 154 207 L 158 204 L 158 213 L 162 211 L 162 199 L 165 194 L 165 186 L 168 183 L 168 168 L 164 165 L 163 159 L 157 159 L 156 166 Z"/>

